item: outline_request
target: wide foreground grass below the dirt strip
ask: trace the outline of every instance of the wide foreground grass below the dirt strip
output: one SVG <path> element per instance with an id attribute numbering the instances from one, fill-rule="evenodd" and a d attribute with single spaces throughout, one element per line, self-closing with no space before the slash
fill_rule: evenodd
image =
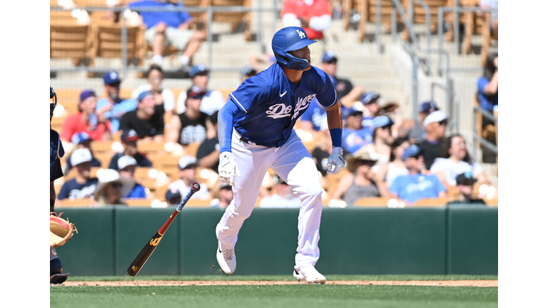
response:
<path id="1" fill-rule="evenodd" d="M 489 308 L 498 306 L 498 288 L 333 284 L 50 287 L 50 306 L 56 308 Z"/>

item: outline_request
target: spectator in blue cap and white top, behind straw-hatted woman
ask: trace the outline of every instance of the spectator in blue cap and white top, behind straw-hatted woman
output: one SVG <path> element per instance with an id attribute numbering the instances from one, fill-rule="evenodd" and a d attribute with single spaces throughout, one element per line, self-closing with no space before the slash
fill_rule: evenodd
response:
<path id="1" fill-rule="evenodd" d="M 369 154 L 377 160 L 377 163 L 372 167 L 374 173 L 379 173 L 383 166 L 390 163 L 390 155 L 392 153 L 392 125 L 394 122 L 387 116 L 377 116 L 373 118 L 373 142 L 367 146 Z"/>

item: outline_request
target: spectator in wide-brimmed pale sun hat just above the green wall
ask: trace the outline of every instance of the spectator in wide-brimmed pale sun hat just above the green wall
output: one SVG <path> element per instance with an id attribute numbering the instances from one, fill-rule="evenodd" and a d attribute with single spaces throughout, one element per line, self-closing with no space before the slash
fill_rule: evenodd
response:
<path id="1" fill-rule="evenodd" d="M 104 169 L 98 173 L 98 185 L 95 191 L 95 206 L 126 205 L 123 196 L 128 195 L 135 183 L 131 178 L 122 178 L 116 170 Z"/>

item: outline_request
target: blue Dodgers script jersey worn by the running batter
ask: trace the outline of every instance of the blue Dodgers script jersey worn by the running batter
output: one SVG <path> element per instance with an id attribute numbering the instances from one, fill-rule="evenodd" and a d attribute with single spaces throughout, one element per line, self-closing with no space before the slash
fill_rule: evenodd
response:
<path id="1" fill-rule="evenodd" d="M 230 101 L 243 111 L 235 115 L 234 128 L 257 145 L 280 147 L 314 98 L 325 108 L 337 103 L 335 88 L 325 72 L 312 66 L 303 72 L 300 84 L 296 85 L 285 76 L 280 65 L 274 63 L 245 79 L 230 93 Z M 265 127 L 268 127 L 266 134 Z"/>

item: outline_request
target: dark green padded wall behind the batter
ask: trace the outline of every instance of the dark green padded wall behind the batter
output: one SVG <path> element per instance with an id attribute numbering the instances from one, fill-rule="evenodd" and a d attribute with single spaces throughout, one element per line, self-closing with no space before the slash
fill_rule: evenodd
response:
<path id="1" fill-rule="evenodd" d="M 57 252 L 75 276 L 123 275 L 175 207 L 59 208 L 78 234 Z M 298 209 L 256 208 L 235 247 L 235 274 L 290 274 Z M 186 207 L 139 275 L 219 274 L 223 210 Z M 323 274 L 498 274 L 497 207 L 324 208 Z"/>

